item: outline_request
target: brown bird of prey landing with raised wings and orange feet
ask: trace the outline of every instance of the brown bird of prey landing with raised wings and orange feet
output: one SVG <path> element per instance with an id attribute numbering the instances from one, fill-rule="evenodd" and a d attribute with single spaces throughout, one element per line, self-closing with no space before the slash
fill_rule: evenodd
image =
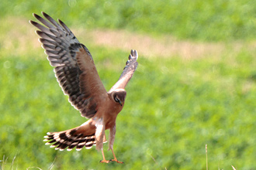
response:
<path id="1" fill-rule="evenodd" d="M 40 36 L 43 49 L 47 54 L 50 65 L 54 66 L 54 73 L 64 94 L 68 95 L 71 105 L 80 111 L 82 117 L 88 118 L 84 124 L 67 131 L 48 132 L 43 141 L 51 148 L 56 147 L 67 151 L 92 148 L 102 151 L 100 162 L 119 162 L 113 151 L 116 134 L 116 116 L 123 109 L 126 99 L 126 84 L 137 69 L 138 53 L 131 50 L 130 56 L 123 69 L 123 73 L 115 85 L 107 92 L 99 78 L 91 53 L 81 44 L 70 29 L 58 19 L 54 19 L 42 12 L 33 16 L 41 23 L 29 21 L 36 26 L 36 33 Z M 43 26 L 44 25 L 44 26 Z M 113 159 L 106 160 L 103 143 L 106 142 L 105 131 L 109 129 L 109 149 Z"/>

